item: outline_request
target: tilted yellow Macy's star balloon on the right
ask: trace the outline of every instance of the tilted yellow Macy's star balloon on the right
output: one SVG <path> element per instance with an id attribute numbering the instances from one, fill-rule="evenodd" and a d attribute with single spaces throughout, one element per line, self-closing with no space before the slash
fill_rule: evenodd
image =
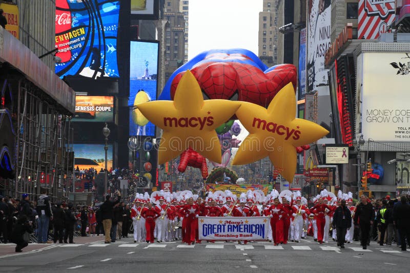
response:
<path id="1" fill-rule="evenodd" d="M 283 87 L 265 109 L 242 102 L 236 116 L 249 131 L 232 161 L 233 165 L 255 162 L 269 156 L 275 168 L 292 183 L 296 171 L 296 147 L 312 143 L 327 133 L 314 122 L 295 118 L 295 91 L 292 83 Z"/>

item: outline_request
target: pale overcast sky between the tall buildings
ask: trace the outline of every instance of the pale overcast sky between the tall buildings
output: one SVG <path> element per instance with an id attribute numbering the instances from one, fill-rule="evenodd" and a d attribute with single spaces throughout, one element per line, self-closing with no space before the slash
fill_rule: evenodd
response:
<path id="1" fill-rule="evenodd" d="M 189 0 L 188 59 L 210 49 L 243 48 L 258 55 L 262 0 Z"/>

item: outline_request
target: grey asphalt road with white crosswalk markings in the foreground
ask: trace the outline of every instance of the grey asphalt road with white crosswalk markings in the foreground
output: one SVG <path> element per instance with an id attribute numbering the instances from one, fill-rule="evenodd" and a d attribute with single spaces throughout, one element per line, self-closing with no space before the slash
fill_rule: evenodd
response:
<path id="1" fill-rule="evenodd" d="M 130 236 L 131 237 L 131 236 Z M 358 242 L 340 250 L 335 242 L 207 243 L 180 241 L 51 244 L 42 251 L 0 256 L 0 271 L 26 272 L 408 272 L 410 252 L 375 242 L 363 251 Z M 0 247 L 4 247 L 0 245 Z M 9 246 L 10 247 L 10 246 Z"/>

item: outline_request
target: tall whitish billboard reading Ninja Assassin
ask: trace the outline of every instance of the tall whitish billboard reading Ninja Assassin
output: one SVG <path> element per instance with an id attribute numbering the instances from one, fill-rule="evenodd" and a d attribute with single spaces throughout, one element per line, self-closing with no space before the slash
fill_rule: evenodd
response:
<path id="1" fill-rule="evenodd" d="M 324 55 L 331 44 L 331 18 L 331 0 L 309 0 L 306 92 L 316 91 L 319 84 L 327 84 Z"/>

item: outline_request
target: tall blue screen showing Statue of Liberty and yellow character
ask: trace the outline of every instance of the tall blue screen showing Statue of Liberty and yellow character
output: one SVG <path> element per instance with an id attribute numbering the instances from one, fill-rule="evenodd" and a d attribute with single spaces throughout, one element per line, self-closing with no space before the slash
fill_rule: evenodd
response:
<path id="1" fill-rule="evenodd" d="M 157 99 L 158 42 L 131 41 L 130 135 L 155 136 L 155 125 L 132 106 Z"/>

